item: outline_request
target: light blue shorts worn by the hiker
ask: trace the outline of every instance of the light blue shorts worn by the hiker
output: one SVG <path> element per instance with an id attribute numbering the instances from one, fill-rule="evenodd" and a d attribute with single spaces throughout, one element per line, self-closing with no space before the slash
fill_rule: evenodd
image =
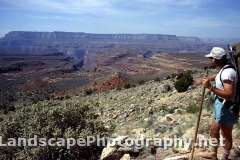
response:
<path id="1" fill-rule="evenodd" d="M 224 124 L 226 126 L 233 126 L 237 122 L 236 116 L 229 109 L 231 106 L 224 106 L 218 98 L 215 99 L 214 103 L 214 118 L 217 123 Z"/>

